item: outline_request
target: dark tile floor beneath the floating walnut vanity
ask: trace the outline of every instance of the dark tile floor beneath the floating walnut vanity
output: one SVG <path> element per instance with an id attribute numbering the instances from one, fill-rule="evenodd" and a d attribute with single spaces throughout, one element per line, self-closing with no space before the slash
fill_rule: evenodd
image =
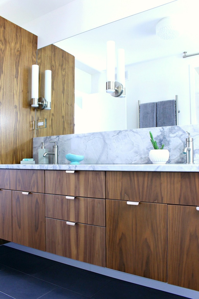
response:
<path id="1" fill-rule="evenodd" d="M 0 246 L 0 299 L 183 299 Z"/>

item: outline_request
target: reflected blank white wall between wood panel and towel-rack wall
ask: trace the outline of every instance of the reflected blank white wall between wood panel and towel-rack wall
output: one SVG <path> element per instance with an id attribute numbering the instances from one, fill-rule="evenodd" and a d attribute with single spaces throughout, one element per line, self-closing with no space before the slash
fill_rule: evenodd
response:
<path id="1" fill-rule="evenodd" d="M 106 73 L 75 68 L 75 134 L 125 129 L 126 98 L 106 93 Z"/>

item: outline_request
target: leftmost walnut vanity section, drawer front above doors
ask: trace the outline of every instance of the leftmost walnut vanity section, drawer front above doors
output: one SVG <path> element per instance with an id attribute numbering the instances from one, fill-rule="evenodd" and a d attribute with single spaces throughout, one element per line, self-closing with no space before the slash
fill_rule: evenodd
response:
<path id="1" fill-rule="evenodd" d="M 4 199 L 9 205 L 12 238 L 4 239 L 45 251 L 44 170 L 1 169 L 0 188 L 10 189 L 5 190 Z"/>

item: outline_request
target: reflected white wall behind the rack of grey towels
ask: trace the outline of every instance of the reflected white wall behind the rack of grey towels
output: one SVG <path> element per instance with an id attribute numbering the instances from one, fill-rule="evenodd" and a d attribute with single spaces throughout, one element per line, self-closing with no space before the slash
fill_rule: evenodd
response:
<path id="1" fill-rule="evenodd" d="M 130 65 L 126 82 L 127 128 L 138 123 L 138 100 L 141 103 L 175 99 L 178 95 L 179 125 L 191 123 L 189 59 L 182 55 Z"/>

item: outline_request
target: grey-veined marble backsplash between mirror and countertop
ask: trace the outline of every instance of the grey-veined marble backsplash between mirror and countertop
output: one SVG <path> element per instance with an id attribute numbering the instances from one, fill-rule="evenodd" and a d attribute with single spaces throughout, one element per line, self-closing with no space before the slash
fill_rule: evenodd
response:
<path id="1" fill-rule="evenodd" d="M 33 158 L 38 164 L 38 149 L 44 142 L 49 152 L 53 151 L 56 141 L 59 149 L 59 164 L 69 164 L 65 158 L 68 153 L 84 155 L 81 164 L 151 164 L 149 151 L 153 149 L 149 131 L 158 145 L 164 144 L 169 150 L 167 163 L 185 163 L 183 148 L 188 134 L 194 140 L 194 162 L 199 163 L 199 125 L 168 126 L 123 131 L 95 132 L 33 138 Z M 49 163 L 52 164 L 52 155 Z"/>

